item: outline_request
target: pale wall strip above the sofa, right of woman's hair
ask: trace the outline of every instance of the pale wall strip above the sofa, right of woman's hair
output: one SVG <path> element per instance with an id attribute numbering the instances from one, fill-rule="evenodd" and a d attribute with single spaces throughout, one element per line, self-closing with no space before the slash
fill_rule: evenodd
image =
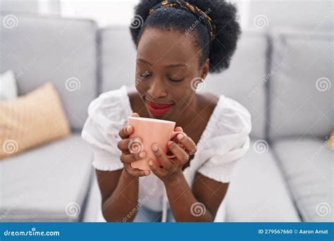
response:
<path id="1" fill-rule="evenodd" d="M 333 0 L 249 0 L 243 3 L 247 5 L 242 16 L 247 28 L 333 30 Z"/>

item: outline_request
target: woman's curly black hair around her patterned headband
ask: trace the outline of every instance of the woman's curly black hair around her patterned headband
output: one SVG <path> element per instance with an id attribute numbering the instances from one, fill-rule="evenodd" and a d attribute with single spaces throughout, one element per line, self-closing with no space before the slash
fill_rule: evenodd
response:
<path id="1" fill-rule="evenodd" d="M 187 1 L 207 13 L 216 25 L 216 35 L 210 44 L 209 31 L 202 23 L 194 27 L 194 23 L 198 23 L 198 18 L 188 11 L 165 7 L 149 14 L 149 8 L 160 2 L 161 0 L 141 0 L 135 7 L 135 17 L 132 19 L 130 32 L 136 47 L 147 27 L 179 30 L 194 35 L 195 44 L 202 50 L 200 64 L 202 66 L 209 58 L 210 73 L 219 73 L 228 68 L 241 34 L 237 22 L 237 8 L 233 4 L 225 0 Z"/>

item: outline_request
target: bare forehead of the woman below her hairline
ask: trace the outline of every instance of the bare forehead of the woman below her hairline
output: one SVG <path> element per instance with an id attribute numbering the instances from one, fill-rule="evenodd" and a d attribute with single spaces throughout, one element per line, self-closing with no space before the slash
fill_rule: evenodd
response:
<path id="1" fill-rule="evenodd" d="M 159 30 L 147 28 L 142 33 L 137 47 L 138 58 L 150 63 L 192 63 L 197 61 L 199 49 L 194 36 L 178 30 Z"/>

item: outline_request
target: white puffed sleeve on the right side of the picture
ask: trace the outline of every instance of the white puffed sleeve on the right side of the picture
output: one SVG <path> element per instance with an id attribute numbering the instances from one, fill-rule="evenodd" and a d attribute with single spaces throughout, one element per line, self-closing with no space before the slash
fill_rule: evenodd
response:
<path id="1" fill-rule="evenodd" d="M 197 170 L 221 183 L 229 183 L 237 160 L 249 149 L 252 122 L 249 111 L 237 101 L 223 97 L 209 121 L 205 141 L 198 147 L 205 160 Z"/>

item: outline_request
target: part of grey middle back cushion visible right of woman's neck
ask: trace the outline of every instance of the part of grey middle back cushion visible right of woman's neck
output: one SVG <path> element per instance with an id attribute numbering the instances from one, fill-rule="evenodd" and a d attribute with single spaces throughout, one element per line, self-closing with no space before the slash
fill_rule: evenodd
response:
<path id="1" fill-rule="evenodd" d="M 240 102 L 252 116 L 251 136 L 265 138 L 266 73 L 268 39 L 264 32 L 244 31 L 230 66 L 223 73 L 209 74 L 205 91 L 224 94 Z"/>

